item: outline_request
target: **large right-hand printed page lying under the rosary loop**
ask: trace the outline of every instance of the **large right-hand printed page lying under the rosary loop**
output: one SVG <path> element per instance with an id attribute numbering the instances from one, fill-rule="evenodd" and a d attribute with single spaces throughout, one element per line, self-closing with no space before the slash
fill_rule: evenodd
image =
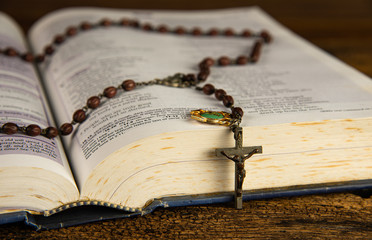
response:
<path id="1" fill-rule="evenodd" d="M 135 18 L 155 26 L 268 30 L 274 41 L 264 46 L 258 63 L 214 67 L 208 78 L 208 83 L 226 90 L 234 97 L 235 106 L 244 109 L 243 126 L 372 116 L 370 79 L 293 35 L 258 8 L 195 12 L 62 10 L 42 19 L 30 39 L 40 52 L 66 27 L 105 17 Z M 68 39 L 42 71 L 62 123 L 71 121 L 73 112 L 105 87 L 118 86 L 125 79 L 140 82 L 177 72 L 197 73 L 197 65 L 205 57 L 248 55 L 253 42 L 117 26 L 97 28 Z M 163 86 L 141 87 L 105 101 L 73 136 L 65 138 L 79 185 L 100 161 L 131 142 L 169 131 L 213 128 L 189 119 L 189 111 L 199 108 L 228 111 L 214 97 L 193 89 Z"/>

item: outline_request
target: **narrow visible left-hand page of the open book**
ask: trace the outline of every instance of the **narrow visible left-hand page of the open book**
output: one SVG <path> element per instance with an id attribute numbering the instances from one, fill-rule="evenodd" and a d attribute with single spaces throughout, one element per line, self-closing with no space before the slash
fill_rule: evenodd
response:
<path id="1" fill-rule="evenodd" d="M 13 47 L 26 52 L 19 27 L 0 13 L 0 49 Z M 54 125 L 32 64 L 18 57 L 0 54 L 0 126 L 6 122 L 18 126 Z M 0 167 L 37 167 L 56 172 L 74 183 L 61 142 L 42 136 L 0 134 Z"/>

